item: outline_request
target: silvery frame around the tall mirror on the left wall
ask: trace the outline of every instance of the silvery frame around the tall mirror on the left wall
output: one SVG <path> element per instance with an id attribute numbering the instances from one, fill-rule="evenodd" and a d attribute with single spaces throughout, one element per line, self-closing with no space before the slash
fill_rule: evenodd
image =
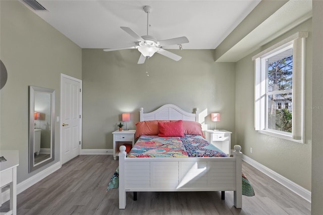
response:
<path id="1" fill-rule="evenodd" d="M 34 110 L 35 92 L 45 92 L 50 94 L 51 122 L 50 122 L 50 157 L 35 165 L 34 159 Z M 55 159 L 55 90 L 44 87 L 29 86 L 29 173 L 43 167 Z"/>

